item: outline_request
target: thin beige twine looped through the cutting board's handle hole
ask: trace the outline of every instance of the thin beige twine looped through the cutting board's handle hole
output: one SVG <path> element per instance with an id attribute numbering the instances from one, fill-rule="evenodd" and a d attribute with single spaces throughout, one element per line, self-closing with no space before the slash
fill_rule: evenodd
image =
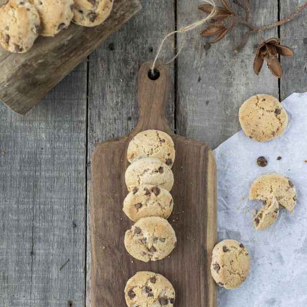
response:
<path id="1" fill-rule="evenodd" d="M 182 39 L 181 46 L 180 46 L 180 48 L 179 48 L 177 54 L 176 54 L 171 60 L 169 60 L 168 62 L 166 62 L 166 64 L 172 62 L 174 59 L 176 59 L 176 58 L 179 56 L 179 54 L 180 54 L 180 52 L 181 52 L 181 50 L 182 50 L 182 48 L 183 48 L 185 39 L 186 39 L 186 34 L 187 34 L 186 32 L 191 31 L 191 30 L 193 30 L 193 29 L 195 29 L 195 28 L 197 28 L 197 27 L 203 25 L 204 23 L 206 23 L 207 20 L 211 19 L 211 18 L 216 14 L 216 5 L 215 5 L 215 3 L 214 3 L 212 0 L 204 0 L 204 3 L 209 4 L 209 5 L 212 5 L 212 7 L 213 7 L 211 13 L 210 13 L 206 18 L 201 19 L 201 20 L 199 20 L 199 21 L 196 21 L 195 23 L 192 23 L 192 24 L 190 24 L 190 25 L 188 25 L 188 26 L 186 26 L 186 27 L 183 27 L 183 28 L 181 28 L 180 30 L 172 31 L 172 32 L 168 33 L 168 34 L 162 39 L 162 42 L 161 42 L 161 45 L 160 45 L 160 47 L 159 47 L 159 49 L 158 49 L 156 58 L 155 58 L 155 60 L 154 60 L 153 63 L 152 63 L 151 75 L 153 75 L 153 69 L 155 69 L 155 64 L 156 64 L 156 61 L 157 61 L 157 59 L 158 59 L 158 56 L 159 56 L 159 54 L 160 54 L 160 52 L 161 52 L 161 49 L 162 49 L 162 47 L 163 47 L 163 44 L 164 44 L 165 40 L 166 40 L 169 36 L 171 36 L 171 35 L 173 35 L 173 34 L 176 34 L 176 33 L 183 33 L 183 39 Z"/>

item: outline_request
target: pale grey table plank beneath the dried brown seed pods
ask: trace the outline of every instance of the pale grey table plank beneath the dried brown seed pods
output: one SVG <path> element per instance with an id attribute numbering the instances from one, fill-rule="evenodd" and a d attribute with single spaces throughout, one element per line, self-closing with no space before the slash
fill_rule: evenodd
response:
<path id="1" fill-rule="evenodd" d="M 232 1 L 236 11 L 242 11 Z M 204 17 L 198 10 L 201 1 L 178 2 L 178 27 Z M 277 0 L 255 1 L 251 8 L 255 25 L 277 20 Z M 259 76 L 253 71 L 253 46 L 260 42 L 257 34 L 248 38 L 246 46 L 235 54 L 234 49 L 247 30 L 236 26 L 220 42 L 204 50 L 212 40 L 199 35 L 204 27 L 187 34 L 184 49 L 178 58 L 178 134 L 200 140 L 215 148 L 240 129 L 238 108 L 250 96 L 267 93 L 278 97 L 278 80 L 264 65 Z M 264 32 L 265 38 L 277 36 L 277 29 Z"/>

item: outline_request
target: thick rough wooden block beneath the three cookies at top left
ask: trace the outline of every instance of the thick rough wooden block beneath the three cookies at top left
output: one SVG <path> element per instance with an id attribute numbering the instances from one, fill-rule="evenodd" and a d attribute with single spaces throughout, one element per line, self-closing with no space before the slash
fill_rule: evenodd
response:
<path id="1" fill-rule="evenodd" d="M 24 115 L 64 76 L 141 9 L 139 0 L 115 0 L 103 24 L 88 28 L 71 24 L 55 37 L 39 37 L 30 51 L 0 49 L 0 99 Z"/>

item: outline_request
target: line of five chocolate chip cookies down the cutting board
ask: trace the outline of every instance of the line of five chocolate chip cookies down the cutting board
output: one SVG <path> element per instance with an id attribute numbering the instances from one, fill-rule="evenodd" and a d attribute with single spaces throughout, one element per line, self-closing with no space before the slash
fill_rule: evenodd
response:
<path id="1" fill-rule="evenodd" d="M 135 222 L 125 233 L 128 253 L 141 261 L 165 258 L 176 246 L 176 234 L 166 218 L 172 212 L 171 167 L 175 158 L 172 139 L 163 131 L 146 130 L 129 143 L 125 173 L 129 191 L 123 204 L 125 214 Z M 174 289 L 162 275 L 138 272 L 125 288 L 128 306 L 172 306 Z"/>

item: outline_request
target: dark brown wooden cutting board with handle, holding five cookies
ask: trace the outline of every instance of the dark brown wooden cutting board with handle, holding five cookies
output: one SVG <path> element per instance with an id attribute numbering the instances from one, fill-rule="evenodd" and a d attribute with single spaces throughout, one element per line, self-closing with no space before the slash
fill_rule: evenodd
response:
<path id="1" fill-rule="evenodd" d="M 121 138 L 100 143 L 93 153 L 92 307 L 126 306 L 126 281 L 138 271 L 164 275 L 176 291 L 176 307 L 215 307 L 217 286 L 210 274 L 211 253 L 217 240 L 215 159 L 207 145 L 171 132 L 165 118 L 169 69 L 158 62 L 160 77 L 151 80 L 151 64 L 144 63 L 139 71 L 137 127 Z M 125 231 L 133 222 L 122 211 L 128 193 L 128 143 L 146 129 L 165 131 L 174 141 L 174 208 L 168 221 L 177 235 L 177 246 L 170 257 L 147 263 L 131 257 L 124 247 Z"/>

